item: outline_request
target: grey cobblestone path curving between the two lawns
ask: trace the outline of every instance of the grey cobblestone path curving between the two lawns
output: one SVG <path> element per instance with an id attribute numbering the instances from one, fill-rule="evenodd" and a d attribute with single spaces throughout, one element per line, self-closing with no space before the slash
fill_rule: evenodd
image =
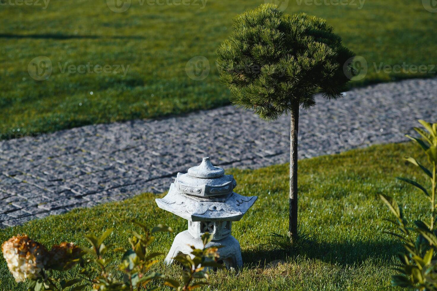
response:
<path id="1" fill-rule="evenodd" d="M 301 109 L 299 158 L 400 142 L 437 121 L 437 79 L 354 89 Z M 76 207 L 166 191 L 209 156 L 225 168 L 289 159 L 289 118 L 266 123 L 232 106 L 159 120 L 83 126 L 0 142 L 0 228 Z"/>

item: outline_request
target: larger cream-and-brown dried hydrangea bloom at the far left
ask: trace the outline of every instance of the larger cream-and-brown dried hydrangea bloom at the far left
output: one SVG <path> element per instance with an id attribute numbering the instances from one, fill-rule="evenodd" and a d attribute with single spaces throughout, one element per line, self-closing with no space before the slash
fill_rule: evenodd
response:
<path id="1" fill-rule="evenodd" d="M 38 276 L 47 262 L 47 250 L 27 235 L 11 237 L 1 246 L 10 273 L 15 281 L 23 282 Z"/>

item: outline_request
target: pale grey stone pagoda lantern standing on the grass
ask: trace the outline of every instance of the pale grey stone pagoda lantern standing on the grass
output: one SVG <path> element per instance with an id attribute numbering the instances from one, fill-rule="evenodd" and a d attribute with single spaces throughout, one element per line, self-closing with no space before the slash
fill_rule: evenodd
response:
<path id="1" fill-rule="evenodd" d="M 232 221 L 239 221 L 258 197 L 239 195 L 233 192 L 235 187 L 234 177 L 213 166 L 209 158 L 187 174 L 177 174 L 167 195 L 156 199 L 160 208 L 188 221 L 188 229 L 174 238 L 167 264 L 180 252 L 191 254 L 190 245 L 202 249 L 201 235 L 208 232 L 213 238 L 207 247 L 222 246 L 218 254 L 227 268 L 243 266 L 240 244 L 231 235 Z"/>

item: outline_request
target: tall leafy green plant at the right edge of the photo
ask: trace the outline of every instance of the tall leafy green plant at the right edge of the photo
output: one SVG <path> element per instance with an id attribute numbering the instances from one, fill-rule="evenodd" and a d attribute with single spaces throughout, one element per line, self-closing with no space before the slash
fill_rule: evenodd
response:
<path id="1" fill-rule="evenodd" d="M 415 158 L 406 157 L 405 160 L 419 167 L 431 183 L 430 191 L 418 182 L 398 178 L 407 182 L 425 194 L 425 200 L 430 203 L 429 222 L 416 220 L 414 226 L 409 227 L 402 213 L 402 207 L 389 196 L 380 194 L 381 199 L 395 215 L 396 221 L 388 220 L 397 225 L 397 233 L 388 232 L 402 242 L 405 251 L 398 253 L 399 265 L 395 270 L 401 274 L 392 276 L 392 285 L 406 287 L 414 290 L 437 290 L 437 230 L 436 224 L 436 165 L 437 165 L 437 123 L 430 124 L 423 120 L 419 122 L 426 130 L 415 127 L 421 139 L 409 137 L 423 150 L 431 169 L 416 161 Z"/>

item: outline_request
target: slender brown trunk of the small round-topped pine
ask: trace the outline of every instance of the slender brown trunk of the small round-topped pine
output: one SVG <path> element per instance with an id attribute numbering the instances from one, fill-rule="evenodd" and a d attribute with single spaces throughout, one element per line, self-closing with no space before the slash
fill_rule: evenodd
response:
<path id="1" fill-rule="evenodd" d="M 298 235 L 298 127 L 299 104 L 290 112 L 290 215 L 288 231 L 291 238 Z"/>

